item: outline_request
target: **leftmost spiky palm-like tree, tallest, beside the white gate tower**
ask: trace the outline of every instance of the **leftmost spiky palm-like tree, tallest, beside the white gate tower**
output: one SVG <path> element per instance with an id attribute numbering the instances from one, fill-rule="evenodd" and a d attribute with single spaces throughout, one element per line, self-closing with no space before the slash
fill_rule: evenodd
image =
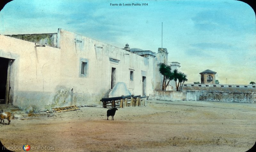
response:
<path id="1" fill-rule="evenodd" d="M 162 90 L 166 90 L 167 86 L 169 85 L 170 81 L 174 79 L 173 72 L 171 66 L 160 63 L 159 72 L 164 76 Z"/>

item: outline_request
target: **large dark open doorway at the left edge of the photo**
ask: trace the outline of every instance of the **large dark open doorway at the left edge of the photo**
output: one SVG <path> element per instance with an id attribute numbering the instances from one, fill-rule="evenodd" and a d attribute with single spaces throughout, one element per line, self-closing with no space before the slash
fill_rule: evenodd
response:
<path id="1" fill-rule="evenodd" d="M 9 59 L 0 57 L 0 104 L 5 104 Z"/>

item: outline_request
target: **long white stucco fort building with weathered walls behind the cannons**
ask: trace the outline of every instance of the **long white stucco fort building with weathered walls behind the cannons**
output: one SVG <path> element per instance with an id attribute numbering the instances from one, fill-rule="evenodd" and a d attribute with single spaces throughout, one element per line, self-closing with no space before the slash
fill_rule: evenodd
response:
<path id="1" fill-rule="evenodd" d="M 168 63 L 167 55 L 165 48 L 133 52 L 62 29 L 0 35 L 0 101 L 33 111 L 100 105 L 118 82 L 149 95 L 161 89 L 157 64 Z"/>

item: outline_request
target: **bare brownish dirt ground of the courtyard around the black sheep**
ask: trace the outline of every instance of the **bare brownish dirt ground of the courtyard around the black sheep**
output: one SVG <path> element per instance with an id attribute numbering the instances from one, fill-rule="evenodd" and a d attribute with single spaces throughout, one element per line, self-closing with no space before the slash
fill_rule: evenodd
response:
<path id="1" fill-rule="evenodd" d="M 80 107 L 12 119 L 0 124 L 0 140 L 12 151 L 28 144 L 30 151 L 58 152 L 244 152 L 256 141 L 256 104 L 146 100 L 118 108 L 113 121 L 107 110 Z"/>

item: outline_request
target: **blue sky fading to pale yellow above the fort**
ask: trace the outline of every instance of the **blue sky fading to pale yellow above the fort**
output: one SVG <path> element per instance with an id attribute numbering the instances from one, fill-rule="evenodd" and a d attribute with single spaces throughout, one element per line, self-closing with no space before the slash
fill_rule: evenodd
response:
<path id="1" fill-rule="evenodd" d="M 256 82 L 255 13 L 241 1 L 13 0 L 0 11 L 2 35 L 58 28 L 119 48 L 128 43 L 157 53 L 163 45 L 187 83 L 200 82 L 206 69 L 217 72 L 220 84 Z"/>

